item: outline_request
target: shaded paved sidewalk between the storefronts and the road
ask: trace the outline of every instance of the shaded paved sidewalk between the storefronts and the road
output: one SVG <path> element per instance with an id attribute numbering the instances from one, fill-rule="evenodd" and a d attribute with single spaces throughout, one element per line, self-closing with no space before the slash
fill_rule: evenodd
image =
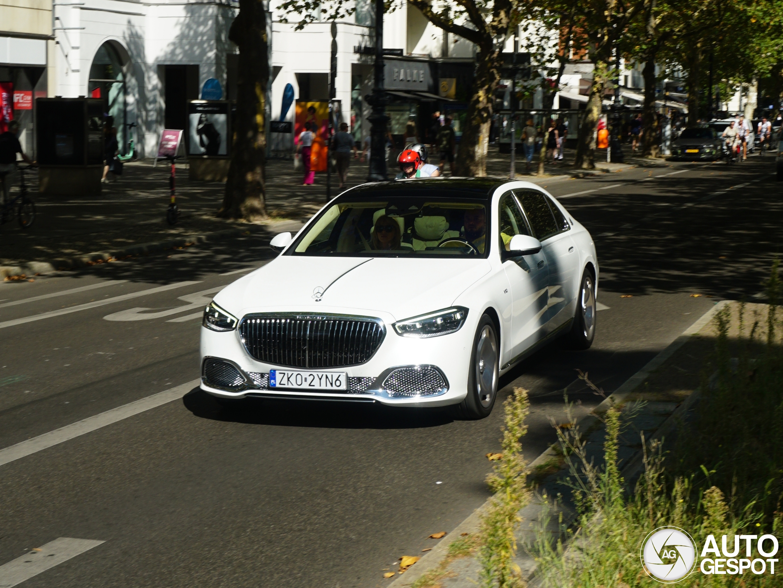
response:
<path id="1" fill-rule="evenodd" d="M 567 150 L 565 156 L 566 162 L 572 161 L 572 151 Z M 508 154 L 500 154 L 497 147 L 490 146 L 489 176 L 508 177 L 509 164 Z M 658 162 L 644 161 L 647 166 L 656 164 Z M 358 159 L 352 160 L 346 187 L 365 181 L 366 165 Z M 598 169 L 587 173 L 618 172 L 633 166 L 630 160 L 623 165 L 600 163 Z M 524 160 L 516 167 L 524 171 Z M 168 207 L 167 165 L 153 168 L 152 160 L 128 162 L 121 178 L 115 183 L 104 184 L 103 194 L 97 198 L 38 194 L 37 173 L 32 171 L 28 173 L 28 180 L 38 216 L 26 231 L 21 230 L 15 220 L 0 227 L 0 277 L 3 278 L 22 273 L 45 273 L 111 256 L 170 249 L 204 240 L 207 236 L 225 238 L 246 230 L 269 231 L 271 235 L 283 230 L 281 223 L 290 227 L 291 221 L 307 220 L 327 201 L 325 173 L 316 176 L 313 186 L 302 186 L 301 172 L 294 171 L 293 161 L 272 159 L 266 168 L 266 207 L 270 219 L 254 224 L 218 219 L 215 211 L 222 203 L 224 184 L 191 182 L 188 164 L 182 163 L 177 166 L 177 202 L 182 216 L 179 223 L 171 227 L 164 218 Z M 395 171 L 390 165 L 390 176 L 393 177 Z M 517 179 L 541 182 L 561 177 L 565 180 L 585 173 L 563 163 L 548 163 L 545 176 L 518 172 Z M 332 197 L 340 191 L 334 174 Z M 139 247 L 145 244 L 154 245 Z"/>

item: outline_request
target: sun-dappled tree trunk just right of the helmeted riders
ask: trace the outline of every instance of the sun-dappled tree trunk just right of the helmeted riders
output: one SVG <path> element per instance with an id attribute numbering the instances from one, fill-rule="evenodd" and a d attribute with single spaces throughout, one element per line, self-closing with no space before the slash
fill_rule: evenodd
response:
<path id="1" fill-rule="evenodd" d="M 486 176 L 487 148 L 489 147 L 489 125 L 492 123 L 493 96 L 500 82 L 498 52 L 482 47 L 476 63 L 476 77 L 473 95 L 467 107 L 465 125 L 456 154 L 454 173 L 457 176 Z"/>

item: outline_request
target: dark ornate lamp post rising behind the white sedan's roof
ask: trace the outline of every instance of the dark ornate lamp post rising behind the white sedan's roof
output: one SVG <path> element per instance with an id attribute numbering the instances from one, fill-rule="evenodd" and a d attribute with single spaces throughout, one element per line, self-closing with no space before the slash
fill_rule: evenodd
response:
<path id="1" fill-rule="evenodd" d="M 373 93 L 364 97 L 373 107 L 370 127 L 370 171 L 367 181 L 386 180 L 386 116 L 388 96 L 384 92 L 384 0 L 375 0 L 375 82 Z"/>

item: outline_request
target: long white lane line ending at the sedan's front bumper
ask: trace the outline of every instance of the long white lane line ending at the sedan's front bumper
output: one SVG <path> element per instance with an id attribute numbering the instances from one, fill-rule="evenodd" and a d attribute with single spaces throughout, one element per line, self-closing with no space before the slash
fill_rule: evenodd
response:
<path id="1" fill-rule="evenodd" d="M 33 453 L 37 453 L 54 445 L 59 445 L 60 443 L 69 441 L 75 437 L 81 437 L 81 435 L 91 433 L 104 426 L 117 423 L 130 416 L 138 415 L 140 412 L 146 412 L 150 410 L 150 408 L 157 408 L 158 406 L 168 404 L 168 402 L 175 401 L 178 398 L 185 396 L 190 390 L 197 387 L 200 382 L 200 379 L 191 380 L 190 382 L 175 388 L 170 388 L 163 392 L 159 392 L 158 394 L 153 394 L 152 396 L 130 402 L 127 405 L 112 408 L 111 410 L 101 412 L 95 416 L 89 416 L 76 423 L 61 426 L 60 429 L 55 429 L 49 431 L 49 433 L 38 435 L 38 437 L 27 439 L 27 441 L 21 441 L 16 445 L 0 449 L 0 466 L 16 461 L 16 459 L 31 456 Z"/>

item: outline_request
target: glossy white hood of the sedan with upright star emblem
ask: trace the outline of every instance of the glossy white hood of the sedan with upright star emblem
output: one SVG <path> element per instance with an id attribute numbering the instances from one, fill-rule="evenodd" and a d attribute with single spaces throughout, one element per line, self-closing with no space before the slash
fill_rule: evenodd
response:
<path id="1" fill-rule="evenodd" d="M 279 256 L 215 296 L 250 312 L 388 313 L 395 320 L 451 306 L 490 270 L 488 260 Z"/>

